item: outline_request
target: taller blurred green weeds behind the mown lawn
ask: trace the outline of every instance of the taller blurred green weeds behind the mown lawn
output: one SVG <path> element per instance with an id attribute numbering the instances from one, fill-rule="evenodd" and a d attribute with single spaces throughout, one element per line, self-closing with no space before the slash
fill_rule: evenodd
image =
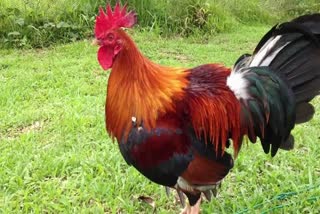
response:
<path id="1" fill-rule="evenodd" d="M 107 1 L 115 4 L 117 0 Z M 127 0 L 138 28 L 161 36 L 211 36 L 319 12 L 319 0 Z M 125 1 L 122 1 L 125 3 Z M 93 36 L 105 0 L 1 0 L 0 48 L 42 48 Z"/>

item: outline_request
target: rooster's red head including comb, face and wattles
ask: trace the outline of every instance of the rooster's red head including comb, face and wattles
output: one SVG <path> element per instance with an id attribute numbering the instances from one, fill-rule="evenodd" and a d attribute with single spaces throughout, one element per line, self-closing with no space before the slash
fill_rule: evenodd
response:
<path id="1" fill-rule="evenodd" d="M 123 41 L 119 34 L 121 28 L 131 28 L 137 23 L 135 12 L 127 12 L 127 5 L 123 7 L 118 2 L 114 11 L 110 4 L 106 7 L 106 12 L 99 8 L 99 15 L 95 22 L 95 40 L 99 45 L 98 61 L 104 70 L 112 67 L 115 57 L 123 48 Z"/>

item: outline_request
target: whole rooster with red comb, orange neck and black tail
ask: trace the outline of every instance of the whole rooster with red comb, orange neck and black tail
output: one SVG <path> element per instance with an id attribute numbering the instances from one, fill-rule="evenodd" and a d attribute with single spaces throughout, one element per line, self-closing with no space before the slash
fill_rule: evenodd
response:
<path id="1" fill-rule="evenodd" d="M 126 5 L 99 9 L 98 62 L 112 69 L 106 129 L 125 161 L 151 181 L 176 189 L 183 213 L 199 213 L 233 167 L 244 137 L 265 153 L 289 150 L 295 124 L 309 121 L 320 91 L 320 14 L 275 25 L 233 68 L 159 65 L 124 28 L 137 23 Z M 233 146 L 234 155 L 226 152 Z"/>

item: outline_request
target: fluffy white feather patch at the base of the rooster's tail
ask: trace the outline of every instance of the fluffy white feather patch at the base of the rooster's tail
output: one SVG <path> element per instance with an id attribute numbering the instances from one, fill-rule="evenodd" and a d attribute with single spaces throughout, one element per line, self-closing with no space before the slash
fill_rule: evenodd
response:
<path id="1" fill-rule="evenodd" d="M 249 93 L 247 91 L 248 81 L 244 78 L 245 72 L 231 72 L 227 78 L 227 85 L 233 91 L 238 99 L 249 99 Z"/>

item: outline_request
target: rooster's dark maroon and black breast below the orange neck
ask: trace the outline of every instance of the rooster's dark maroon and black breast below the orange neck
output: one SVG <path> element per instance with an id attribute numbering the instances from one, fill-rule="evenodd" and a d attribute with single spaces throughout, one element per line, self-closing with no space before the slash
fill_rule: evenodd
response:
<path id="1" fill-rule="evenodd" d="M 190 140 L 175 115 L 166 115 L 152 130 L 133 122 L 127 141 L 119 143 L 129 165 L 155 183 L 173 187 L 192 161 Z"/>

